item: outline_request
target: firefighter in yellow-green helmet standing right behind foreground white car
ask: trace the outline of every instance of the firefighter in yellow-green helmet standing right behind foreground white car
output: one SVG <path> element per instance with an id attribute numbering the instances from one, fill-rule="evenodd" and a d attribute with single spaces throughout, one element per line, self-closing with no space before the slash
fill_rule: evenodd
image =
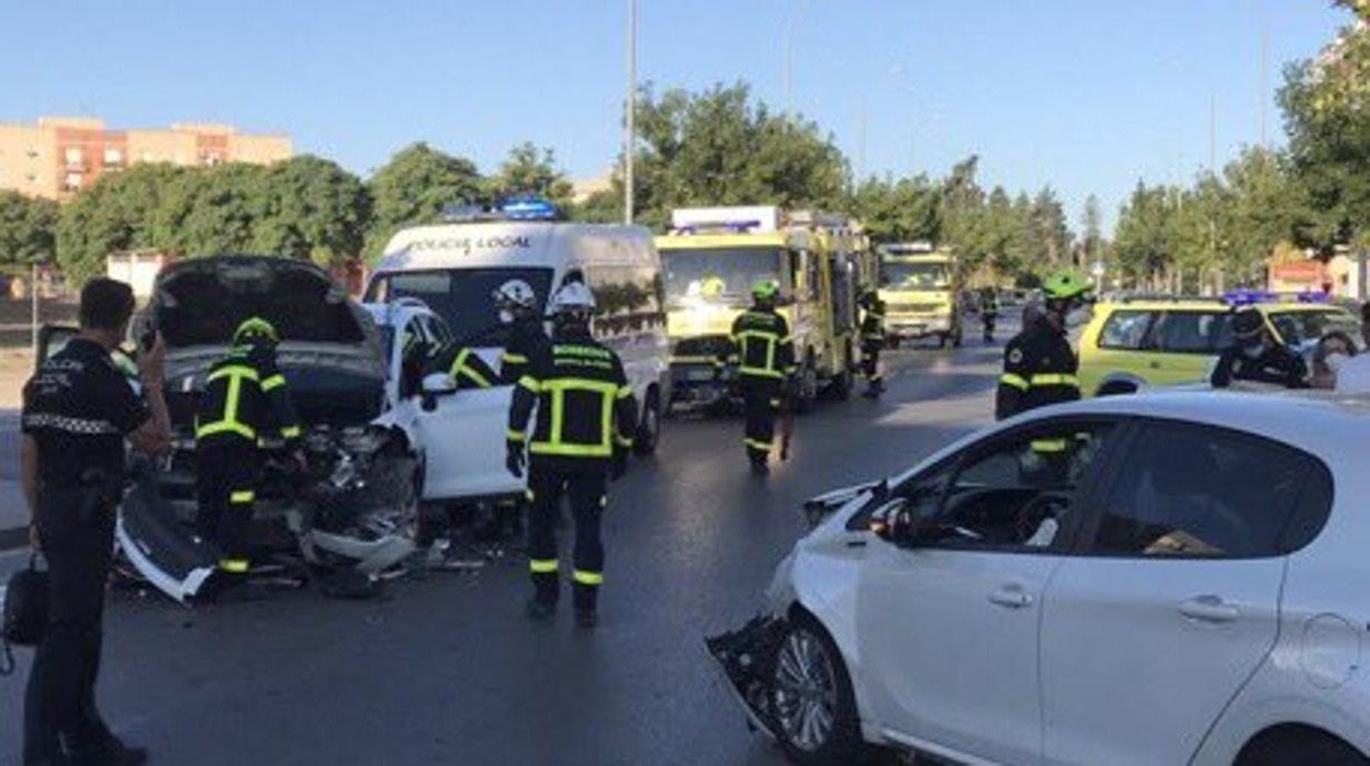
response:
<path id="1" fill-rule="evenodd" d="M 1080 360 L 1066 338 L 1066 317 L 1089 291 L 1089 280 L 1077 271 L 1059 271 L 1043 285 L 1044 311 L 1004 348 L 995 418 L 1080 399 Z"/>

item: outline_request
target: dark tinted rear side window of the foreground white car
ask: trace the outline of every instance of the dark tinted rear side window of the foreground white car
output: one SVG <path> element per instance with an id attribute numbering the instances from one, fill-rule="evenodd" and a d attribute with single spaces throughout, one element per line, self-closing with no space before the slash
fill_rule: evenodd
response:
<path id="1" fill-rule="evenodd" d="M 1089 551 L 1267 558 L 1317 537 L 1332 477 L 1311 455 L 1226 429 L 1144 426 L 1107 495 Z"/>

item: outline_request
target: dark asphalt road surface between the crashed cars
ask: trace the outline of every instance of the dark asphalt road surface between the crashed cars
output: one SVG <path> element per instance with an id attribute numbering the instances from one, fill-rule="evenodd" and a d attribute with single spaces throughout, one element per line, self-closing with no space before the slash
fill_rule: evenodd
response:
<path id="1" fill-rule="evenodd" d="M 669 422 L 658 458 L 611 489 L 593 633 L 571 625 L 570 599 L 555 625 L 526 622 L 526 565 L 512 558 L 397 581 L 371 602 L 304 591 L 186 610 L 115 592 L 101 706 L 164 765 L 780 763 L 701 639 L 755 613 L 803 533 L 804 499 L 988 422 L 1000 349 L 969 343 L 891 354 L 885 399 L 800 418 L 767 480 L 747 473 L 738 421 Z M 21 562 L 0 558 L 0 574 Z M 0 678 L 5 763 L 18 761 L 19 654 L 19 673 Z"/>

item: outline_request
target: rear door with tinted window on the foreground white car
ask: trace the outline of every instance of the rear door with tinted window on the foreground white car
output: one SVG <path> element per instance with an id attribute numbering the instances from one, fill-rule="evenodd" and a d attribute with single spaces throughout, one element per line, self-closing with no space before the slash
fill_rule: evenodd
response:
<path id="1" fill-rule="evenodd" d="M 1270 652 L 1282 533 L 1312 459 L 1181 423 L 1141 429 L 1043 615 L 1049 763 L 1186 763 Z"/>

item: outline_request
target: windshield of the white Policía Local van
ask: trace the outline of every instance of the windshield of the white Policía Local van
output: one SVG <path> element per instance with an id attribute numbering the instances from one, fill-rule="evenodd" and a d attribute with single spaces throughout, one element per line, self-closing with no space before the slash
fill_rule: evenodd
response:
<path id="1" fill-rule="evenodd" d="M 537 295 L 537 310 L 547 304 L 551 269 L 433 269 L 377 277 L 367 289 L 367 303 L 416 297 L 447 321 L 462 345 L 501 347 L 508 330 L 500 325 L 495 291 L 510 280 L 522 280 Z"/>

